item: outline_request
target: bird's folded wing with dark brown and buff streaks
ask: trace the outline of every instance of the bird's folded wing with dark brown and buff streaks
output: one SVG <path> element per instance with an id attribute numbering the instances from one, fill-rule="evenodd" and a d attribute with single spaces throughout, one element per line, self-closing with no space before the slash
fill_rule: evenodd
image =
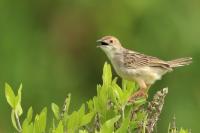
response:
<path id="1" fill-rule="evenodd" d="M 130 50 L 124 51 L 123 62 L 125 67 L 132 69 L 150 66 L 171 70 L 170 65 L 166 61 Z"/>

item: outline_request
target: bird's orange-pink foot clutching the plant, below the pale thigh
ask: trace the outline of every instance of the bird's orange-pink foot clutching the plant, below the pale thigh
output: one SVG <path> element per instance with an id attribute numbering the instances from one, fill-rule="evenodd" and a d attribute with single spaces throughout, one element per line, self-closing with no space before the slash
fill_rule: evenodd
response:
<path id="1" fill-rule="evenodd" d="M 144 89 L 140 89 L 137 92 L 135 92 L 132 96 L 129 97 L 128 102 L 129 103 L 134 103 L 136 100 L 138 99 L 147 99 L 148 98 L 148 94 Z"/>

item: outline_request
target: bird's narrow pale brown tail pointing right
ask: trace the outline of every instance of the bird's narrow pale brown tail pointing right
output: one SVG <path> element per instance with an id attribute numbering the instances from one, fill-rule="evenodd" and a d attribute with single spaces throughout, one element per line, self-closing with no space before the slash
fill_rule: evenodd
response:
<path id="1" fill-rule="evenodd" d="M 192 63 L 192 58 L 191 57 L 185 57 L 185 58 L 179 58 L 175 60 L 168 61 L 170 67 L 180 67 L 180 66 L 185 66 L 189 65 Z"/>

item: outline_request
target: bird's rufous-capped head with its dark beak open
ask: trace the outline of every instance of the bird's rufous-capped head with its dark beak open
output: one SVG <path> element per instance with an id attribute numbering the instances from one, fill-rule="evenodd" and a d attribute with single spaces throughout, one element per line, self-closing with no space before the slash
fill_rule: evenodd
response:
<path id="1" fill-rule="evenodd" d="M 100 43 L 97 47 L 101 48 L 106 54 L 116 52 L 122 48 L 120 41 L 114 36 L 104 36 L 97 42 Z"/>

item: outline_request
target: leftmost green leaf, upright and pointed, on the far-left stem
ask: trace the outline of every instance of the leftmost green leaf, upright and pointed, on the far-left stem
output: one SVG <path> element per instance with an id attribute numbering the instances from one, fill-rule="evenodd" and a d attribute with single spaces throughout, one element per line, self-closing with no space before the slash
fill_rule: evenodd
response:
<path id="1" fill-rule="evenodd" d="M 14 109 L 15 108 L 15 94 L 8 83 L 5 83 L 5 96 L 8 104 Z"/>

